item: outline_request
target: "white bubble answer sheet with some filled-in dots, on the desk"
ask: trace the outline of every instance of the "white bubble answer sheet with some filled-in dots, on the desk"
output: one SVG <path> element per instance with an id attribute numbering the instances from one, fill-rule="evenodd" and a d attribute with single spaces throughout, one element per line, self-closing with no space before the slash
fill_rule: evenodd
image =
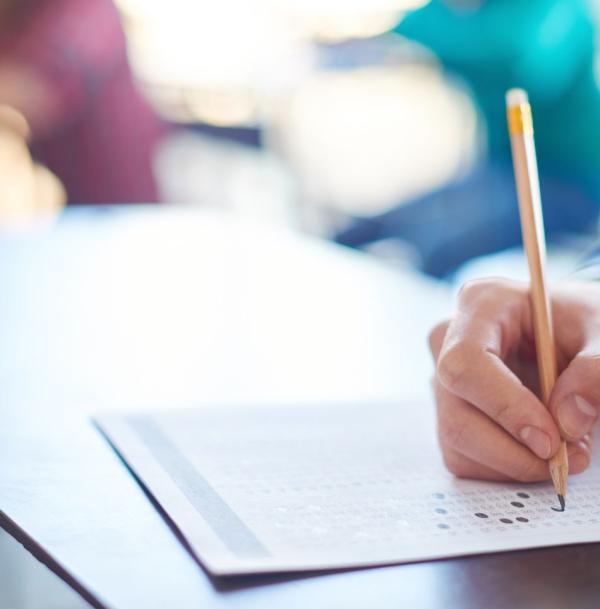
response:
<path id="1" fill-rule="evenodd" d="M 217 576 L 365 567 L 600 541 L 600 469 L 457 480 L 430 404 L 219 408 L 97 424 Z"/>

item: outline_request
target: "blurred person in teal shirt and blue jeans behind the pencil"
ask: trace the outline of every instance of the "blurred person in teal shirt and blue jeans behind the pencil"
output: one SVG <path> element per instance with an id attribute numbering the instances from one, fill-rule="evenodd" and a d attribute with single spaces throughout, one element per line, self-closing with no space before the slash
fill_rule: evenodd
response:
<path id="1" fill-rule="evenodd" d="M 397 238 L 443 277 L 474 256 L 520 242 L 504 94 L 529 93 L 550 240 L 591 232 L 600 206 L 600 91 L 595 18 L 584 0 L 432 0 L 396 27 L 459 77 L 484 122 L 487 152 L 465 178 L 336 239 L 361 247 Z M 432 142 L 432 146 L 435 142 Z"/>

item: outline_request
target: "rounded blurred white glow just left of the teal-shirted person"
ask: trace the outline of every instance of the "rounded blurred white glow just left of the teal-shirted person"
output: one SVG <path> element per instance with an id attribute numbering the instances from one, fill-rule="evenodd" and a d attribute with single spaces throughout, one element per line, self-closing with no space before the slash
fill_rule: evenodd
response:
<path id="1" fill-rule="evenodd" d="M 476 122 L 467 94 L 432 67 L 323 72 L 281 116 L 278 141 L 309 200 L 361 215 L 468 167 Z"/>

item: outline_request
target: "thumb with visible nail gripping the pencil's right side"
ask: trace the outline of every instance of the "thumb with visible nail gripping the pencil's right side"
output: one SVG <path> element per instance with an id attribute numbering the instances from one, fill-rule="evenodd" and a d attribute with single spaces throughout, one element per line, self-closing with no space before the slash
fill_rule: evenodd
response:
<path id="1" fill-rule="evenodd" d="M 558 377 L 550 411 L 563 437 L 578 440 L 588 433 L 600 411 L 600 349 L 586 347 Z"/>

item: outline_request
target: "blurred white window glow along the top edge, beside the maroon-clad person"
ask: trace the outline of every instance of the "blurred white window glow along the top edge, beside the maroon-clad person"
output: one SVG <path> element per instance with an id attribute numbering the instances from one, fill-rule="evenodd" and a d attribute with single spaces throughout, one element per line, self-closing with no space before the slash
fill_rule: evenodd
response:
<path id="1" fill-rule="evenodd" d="M 257 123 L 313 68 L 313 43 L 389 30 L 427 0 L 116 0 L 131 62 L 167 118 Z"/>

